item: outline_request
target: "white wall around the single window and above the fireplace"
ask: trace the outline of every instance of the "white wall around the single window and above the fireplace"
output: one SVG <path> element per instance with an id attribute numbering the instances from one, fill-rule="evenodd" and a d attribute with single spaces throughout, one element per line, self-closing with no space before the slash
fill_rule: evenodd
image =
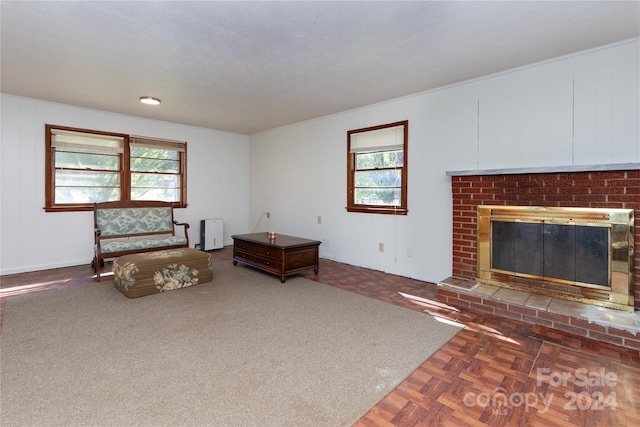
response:
<path id="1" fill-rule="evenodd" d="M 322 240 L 324 258 L 442 280 L 452 262 L 446 171 L 640 161 L 638 52 L 634 39 L 253 134 L 250 224 Z M 405 119 L 408 216 L 347 213 L 347 131 Z"/>

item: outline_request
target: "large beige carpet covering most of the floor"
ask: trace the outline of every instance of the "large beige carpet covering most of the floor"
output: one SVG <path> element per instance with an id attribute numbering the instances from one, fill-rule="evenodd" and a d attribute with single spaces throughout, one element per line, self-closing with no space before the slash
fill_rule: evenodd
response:
<path id="1" fill-rule="evenodd" d="M 10 297 L 7 426 L 348 426 L 458 329 L 231 262 L 128 299 L 111 280 Z"/>

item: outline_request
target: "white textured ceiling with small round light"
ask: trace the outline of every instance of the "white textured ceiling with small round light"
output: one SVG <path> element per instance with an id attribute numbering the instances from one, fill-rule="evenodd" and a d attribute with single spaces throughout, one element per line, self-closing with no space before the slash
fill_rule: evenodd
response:
<path id="1" fill-rule="evenodd" d="M 640 35 L 636 1 L 2 1 L 0 18 L 3 93 L 240 133 Z"/>

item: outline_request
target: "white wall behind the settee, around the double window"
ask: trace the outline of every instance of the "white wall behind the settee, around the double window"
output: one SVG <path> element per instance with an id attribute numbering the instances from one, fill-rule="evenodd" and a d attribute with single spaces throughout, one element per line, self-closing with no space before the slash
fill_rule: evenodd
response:
<path id="1" fill-rule="evenodd" d="M 0 96 L 0 274 L 89 264 L 93 257 L 92 212 L 43 210 L 46 123 L 187 141 L 189 206 L 175 217 L 191 225 L 191 247 L 201 219 L 224 219 L 226 244 L 247 232 L 247 135 Z"/>

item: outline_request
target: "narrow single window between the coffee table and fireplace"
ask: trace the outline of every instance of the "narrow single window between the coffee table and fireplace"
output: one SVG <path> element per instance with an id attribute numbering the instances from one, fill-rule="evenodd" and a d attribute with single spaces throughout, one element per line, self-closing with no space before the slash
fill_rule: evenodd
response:
<path id="1" fill-rule="evenodd" d="M 407 214 L 409 122 L 347 132 L 347 211 Z"/>

